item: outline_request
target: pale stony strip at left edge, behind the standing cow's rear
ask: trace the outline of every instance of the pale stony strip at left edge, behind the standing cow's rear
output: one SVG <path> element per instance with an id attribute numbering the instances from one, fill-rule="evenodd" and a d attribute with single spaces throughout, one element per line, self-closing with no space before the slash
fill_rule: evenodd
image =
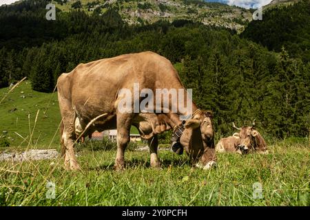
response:
<path id="1" fill-rule="evenodd" d="M 30 149 L 22 153 L 0 153 L 0 161 L 29 161 L 29 160 L 41 160 L 41 159 L 55 159 L 59 156 L 56 149 L 47 150 L 34 150 Z"/>

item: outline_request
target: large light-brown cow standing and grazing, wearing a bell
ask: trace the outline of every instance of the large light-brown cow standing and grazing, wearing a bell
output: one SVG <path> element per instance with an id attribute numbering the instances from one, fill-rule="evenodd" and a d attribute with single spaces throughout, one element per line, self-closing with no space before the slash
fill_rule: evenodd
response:
<path id="1" fill-rule="evenodd" d="M 123 104 L 126 94 L 121 94 L 120 91 L 126 89 L 134 94 L 136 84 L 138 94 L 142 94 L 145 89 L 153 91 L 151 98 L 154 98 L 156 103 L 148 103 L 146 109 L 143 109 L 146 111 L 123 111 L 120 104 Z M 209 115 L 200 111 L 192 100 L 188 102 L 186 98 L 181 102 L 184 101 L 185 106 L 192 106 L 192 110 L 183 111 L 179 106 L 180 100 L 175 100 L 172 96 L 165 100 L 165 94 L 155 93 L 157 89 L 183 91 L 183 97 L 187 97 L 187 91 L 172 63 L 153 52 L 105 58 L 80 64 L 72 72 L 61 74 L 57 80 L 57 90 L 63 122 L 61 146 L 64 149 L 65 168 L 80 168 L 74 154 L 76 118 L 87 134 L 92 131 L 117 129 L 114 164 L 116 170 L 125 167 L 124 154 L 130 142 L 132 124 L 148 137 L 151 165 L 154 167 L 160 166 L 157 133 L 175 127 L 182 128 L 181 132 L 178 132 L 179 129 L 176 131 L 179 135 L 178 141 L 185 147 L 189 157 L 198 162 L 198 166 L 210 168 L 212 164 L 216 164 L 214 131 Z M 136 104 L 142 104 L 145 99 L 146 97 L 140 97 L 136 100 L 135 94 L 130 96 L 130 100 L 134 100 L 131 102 L 131 109 L 134 109 Z M 157 100 L 161 101 L 160 104 Z M 164 105 L 164 102 L 167 105 Z M 156 111 L 150 113 L 149 109 Z M 186 118 L 185 122 L 180 116 Z"/>

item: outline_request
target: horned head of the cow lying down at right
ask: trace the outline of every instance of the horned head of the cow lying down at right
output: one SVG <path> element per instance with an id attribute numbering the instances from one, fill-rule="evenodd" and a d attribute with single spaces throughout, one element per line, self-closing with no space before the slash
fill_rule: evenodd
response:
<path id="1" fill-rule="evenodd" d="M 258 131 L 255 129 L 255 119 L 252 122 L 252 126 L 242 126 L 238 128 L 233 122 L 234 129 L 240 131 L 238 136 L 240 137 L 240 143 L 238 144 L 238 150 L 242 153 L 249 153 L 251 149 L 255 150 L 252 146 L 256 143 L 256 137 L 258 136 Z"/>

